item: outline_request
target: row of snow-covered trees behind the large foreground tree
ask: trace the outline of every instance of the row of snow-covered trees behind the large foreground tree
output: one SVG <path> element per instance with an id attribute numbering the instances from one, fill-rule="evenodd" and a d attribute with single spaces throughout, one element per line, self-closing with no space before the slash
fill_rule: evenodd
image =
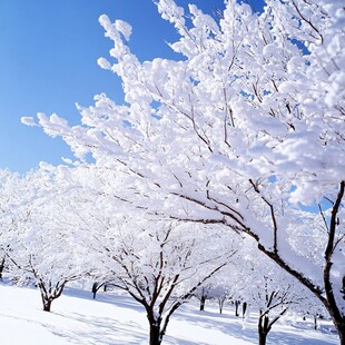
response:
<path id="1" fill-rule="evenodd" d="M 46 312 L 72 282 L 111 285 L 142 305 L 157 345 L 174 312 L 203 293 L 218 299 L 220 312 L 227 299 L 259 312 L 260 344 L 287 309 L 300 316 L 322 310 L 237 234 L 136 208 L 125 213 L 90 166 L 46 166 L 24 177 L 0 172 L 6 274 L 14 284 L 36 285 Z"/>

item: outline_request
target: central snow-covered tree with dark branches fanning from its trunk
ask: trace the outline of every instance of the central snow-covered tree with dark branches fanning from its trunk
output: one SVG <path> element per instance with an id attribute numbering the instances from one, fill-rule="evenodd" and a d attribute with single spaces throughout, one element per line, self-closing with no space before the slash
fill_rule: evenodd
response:
<path id="1" fill-rule="evenodd" d="M 240 245 L 234 245 L 238 235 L 130 207 L 117 198 L 115 176 L 97 166 L 59 169 L 69 186 L 62 209 L 73 215 L 63 224 L 71 243 L 87 250 L 79 269 L 88 272 L 92 283 L 121 288 L 139 302 L 147 312 L 150 344 L 160 344 L 172 313 L 229 264 Z M 93 287 L 96 292 L 98 284 Z"/>

